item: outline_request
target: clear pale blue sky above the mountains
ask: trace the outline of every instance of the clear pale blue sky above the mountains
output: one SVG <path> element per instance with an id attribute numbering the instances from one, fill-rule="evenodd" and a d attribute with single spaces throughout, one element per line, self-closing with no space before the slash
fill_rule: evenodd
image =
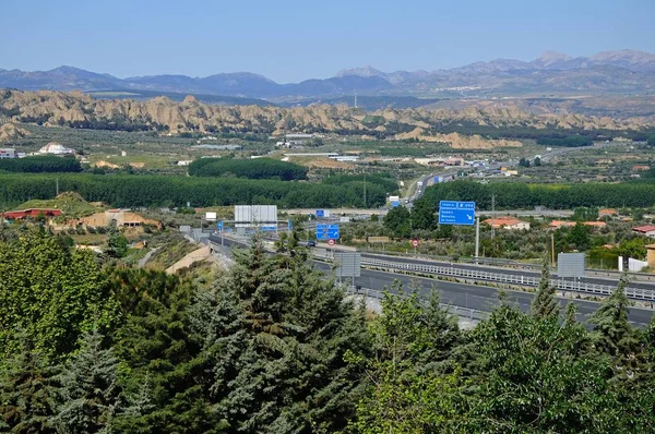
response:
<path id="1" fill-rule="evenodd" d="M 436 70 L 631 48 L 655 52 L 654 0 L 0 0 L 0 68 L 119 77 Z"/>

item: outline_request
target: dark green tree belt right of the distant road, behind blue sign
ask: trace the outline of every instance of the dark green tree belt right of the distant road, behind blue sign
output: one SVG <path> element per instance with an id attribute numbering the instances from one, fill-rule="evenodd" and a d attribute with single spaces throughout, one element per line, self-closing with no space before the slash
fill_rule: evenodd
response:
<path id="1" fill-rule="evenodd" d="M 454 181 L 428 186 L 421 200 L 438 209 L 440 201 L 473 201 L 479 209 L 496 206 L 505 209 L 525 209 L 546 206 L 553 209 L 586 207 L 650 207 L 655 204 L 653 181 L 622 183 L 528 184 L 524 182 Z"/>

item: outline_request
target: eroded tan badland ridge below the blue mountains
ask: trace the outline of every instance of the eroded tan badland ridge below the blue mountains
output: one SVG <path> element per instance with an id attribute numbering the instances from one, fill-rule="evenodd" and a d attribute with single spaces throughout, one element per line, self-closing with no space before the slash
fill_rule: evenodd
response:
<path id="1" fill-rule="evenodd" d="M 166 97 L 147 101 L 94 99 L 72 92 L 0 92 L 0 114 L 12 121 L 67 125 L 74 122 L 139 123 L 153 129 L 180 132 L 239 131 L 281 134 L 283 132 L 382 133 L 397 138 L 437 140 L 458 146 L 461 136 L 440 134 L 440 126 L 477 124 L 544 129 L 640 129 L 642 123 L 582 114 L 536 114 L 516 107 L 466 107 L 446 109 L 384 109 L 362 113 L 347 106 L 312 105 L 281 108 L 260 106 L 215 106 L 187 97 L 175 103 Z M 367 119 L 374 118 L 374 123 Z M 643 120 L 640 120 L 643 121 Z M 13 126 L 8 126 L 12 129 Z M 476 140 L 475 137 L 473 140 Z M 469 140 L 471 141 L 471 140 Z M 513 145 L 511 143 L 504 145 Z M 463 146 L 466 146 L 465 144 Z"/>

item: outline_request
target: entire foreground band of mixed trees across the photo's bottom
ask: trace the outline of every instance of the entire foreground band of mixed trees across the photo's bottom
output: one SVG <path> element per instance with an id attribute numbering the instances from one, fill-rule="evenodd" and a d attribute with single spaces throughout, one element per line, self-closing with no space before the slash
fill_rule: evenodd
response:
<path id="1" fill-rule="evenodd" d="M 38 230 L 0 238 L 4 432 L 655 429 L 655 325 L 628 322 L 624 277 L 591 330 L 547 265 L 529 312 L 501 292 L 463 330 L 438 290 L 394 285 L 379 315 L 346 301 L 295 234 L 210 281 L 102 265 Z"/>

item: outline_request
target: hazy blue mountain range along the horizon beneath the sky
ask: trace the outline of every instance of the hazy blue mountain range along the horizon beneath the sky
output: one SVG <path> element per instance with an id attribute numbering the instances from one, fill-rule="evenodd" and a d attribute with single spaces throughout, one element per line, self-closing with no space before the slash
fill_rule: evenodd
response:
<path id="1" fill-rule="evenodd" d="M 346 95 L 368 96 L 516 96 L 564 94 L 655 94 L 655 55 L 634 50 L 604 51 L 572 58 L 545 52 L 529 62 L 496 59 L 437 71 L 382 72 L 371 67 L 340 71 L 324 80 L 279 84 L 250 72 L 206 77 L 150 75 L 118 79 L 109 74 L 60 67 L 25 72 L 0 69 L 0 87 L 25 91 L 179 93 L 263 98 L 301 104 Z M 233 101 L 234 103 L 234 101 Z"/>

